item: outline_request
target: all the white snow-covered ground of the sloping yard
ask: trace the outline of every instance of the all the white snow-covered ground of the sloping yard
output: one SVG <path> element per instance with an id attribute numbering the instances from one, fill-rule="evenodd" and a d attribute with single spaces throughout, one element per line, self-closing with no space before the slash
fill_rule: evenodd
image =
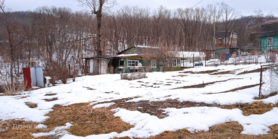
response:
<path id="1" fill-rule="evenodd" d="M 114 103 L 98 104 L 99 102 L 132 98 L 128 102 L 140 100 L 161 101 L 166 99 L 178 99 L 180 101 L 216 103 L 229 105 L 235 103 L 252 103 L 254 97 L 259 94 L 259 86 L 226 92 L 238 87 L 255 85 L 259 83 L 259 72 L 237 75 L 240 72 L 260 68 L 260 65 L 222 65 L 218 67 L 196 67 L 178 72 L 153 72 L 147 73 L 145 79 L 120 80 L 119 74 L 106 74 L 97 76 L 83 76 L 76 79 L 76 82 L 65 85 L 57 85 L 49 88 L 42 88 L 31 91 L 29 94 L 20 96 L 0 96 L 0 119 L 23 119 L 43 123 L 48 116 L 45 114 L 52 111 L 54 105 L 71 105 L 74 103 L 89 102 L 94 108 L 109 107 Z M 217 72 L 231 71 L 234 74 L 192 74 L 179 72 L 200 72 L 207 70 L 218 70 Z M 178 76 L 178 75 L 184 75 Z M 226 81 L 227 80 L 227 81 Z M 222 81 L 222 82 L 216 82 Z M 211 83 L 216 82 L 216 83 Z M 211 83 L 203 88 L 180 88 L 190 85 Z M 46 101 L 54 99 L 54 101 Z M 57 100 L 56 100 L 57 99 Z M 275 104 L 278 102 L 278 95 L 262 100 L 264 103 Z M 29 108 L 25 102 L 36 103 L 38 107 Z M 134 125 L 133 128 L 122 133 L 112 132 L 109 134 L 91 135 L 77 137 L 70 135 L 63 130 L 53 130 L 50 133 L 33 134 L 34 137 L 53 135 L 63 132 L 63 139 L 71 138 L 113 138 L 113 137 L 149 137 L 163 131 L 175 131 L 188 129 L 189 131 L 208 131 L 209 127 L 230 121 L 236 121 L 243 126 L 243 134 L 259 135 L 266 134 L 269 126 L 277 124 L 278 108 L 261 115 L 243 116 L 239 109 L 221 109 L 218 107 L 187 107 L 164 109 L 168 115 L 159 119 L 150 114 L 140 111 L 129 111 L 117 108 L 114 116 L 119 116 L 124 122 Z M 71 126 L 65 123 L 66 129 Z M 58 129 L 59 127 L 57 127 Z M 59 128 L 60 129 L 60 128 Z"/>

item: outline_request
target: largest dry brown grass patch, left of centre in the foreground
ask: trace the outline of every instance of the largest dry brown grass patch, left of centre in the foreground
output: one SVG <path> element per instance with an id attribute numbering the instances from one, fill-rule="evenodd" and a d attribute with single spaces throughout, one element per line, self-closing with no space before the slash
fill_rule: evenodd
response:
<path id="1" fill-rule="evenodd" d="M 68 131 L 76 136 L 89 136 L 111 132 L 129 130 L 131 125 L 123 122 L 119 117 L 114 117 L 113 112 L 106 108 L 93 109 L 89 103 L 79 103 L 69 106 L 54 106 L 46 116 L 50 116 L 44 124 L 49 128 L 63 126 L 67 122 L 73 122 Z"/>

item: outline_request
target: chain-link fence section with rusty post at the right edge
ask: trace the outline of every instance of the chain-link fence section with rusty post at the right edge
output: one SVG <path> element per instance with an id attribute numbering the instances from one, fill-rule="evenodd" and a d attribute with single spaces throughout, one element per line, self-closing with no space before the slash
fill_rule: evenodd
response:
<path id="1" fill-rule="evenodd" d="M 278 64 L 262 65 L 259 96 L 278 92 Z"/>

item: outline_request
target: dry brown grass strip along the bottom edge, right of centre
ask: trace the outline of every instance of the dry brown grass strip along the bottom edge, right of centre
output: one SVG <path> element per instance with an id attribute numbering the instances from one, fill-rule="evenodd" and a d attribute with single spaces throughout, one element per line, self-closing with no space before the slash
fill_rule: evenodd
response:
<path id="1" fill-rule="evenodd" d="M 228 139 L 228 138 L 239 138 L 239 139 L 277 139 L 278 135 L 267 134 L 267 135 L 244 135 L 240 134 L 243 128 L 237 122 L 226 122 L 218 125 L 214 125 L 209 128 L 208 132 L 196 132 L 190 133 L 186 129 L 180 129 L 177 131 L 165 131 L 159 135 L 152 136 L 145 139 Z M 116 138 L 114 138 L 116 139 Z M 128 137 L 119 139 L 130 139 Z M 139 139 L 139 138 L 136 138 Z"/>

